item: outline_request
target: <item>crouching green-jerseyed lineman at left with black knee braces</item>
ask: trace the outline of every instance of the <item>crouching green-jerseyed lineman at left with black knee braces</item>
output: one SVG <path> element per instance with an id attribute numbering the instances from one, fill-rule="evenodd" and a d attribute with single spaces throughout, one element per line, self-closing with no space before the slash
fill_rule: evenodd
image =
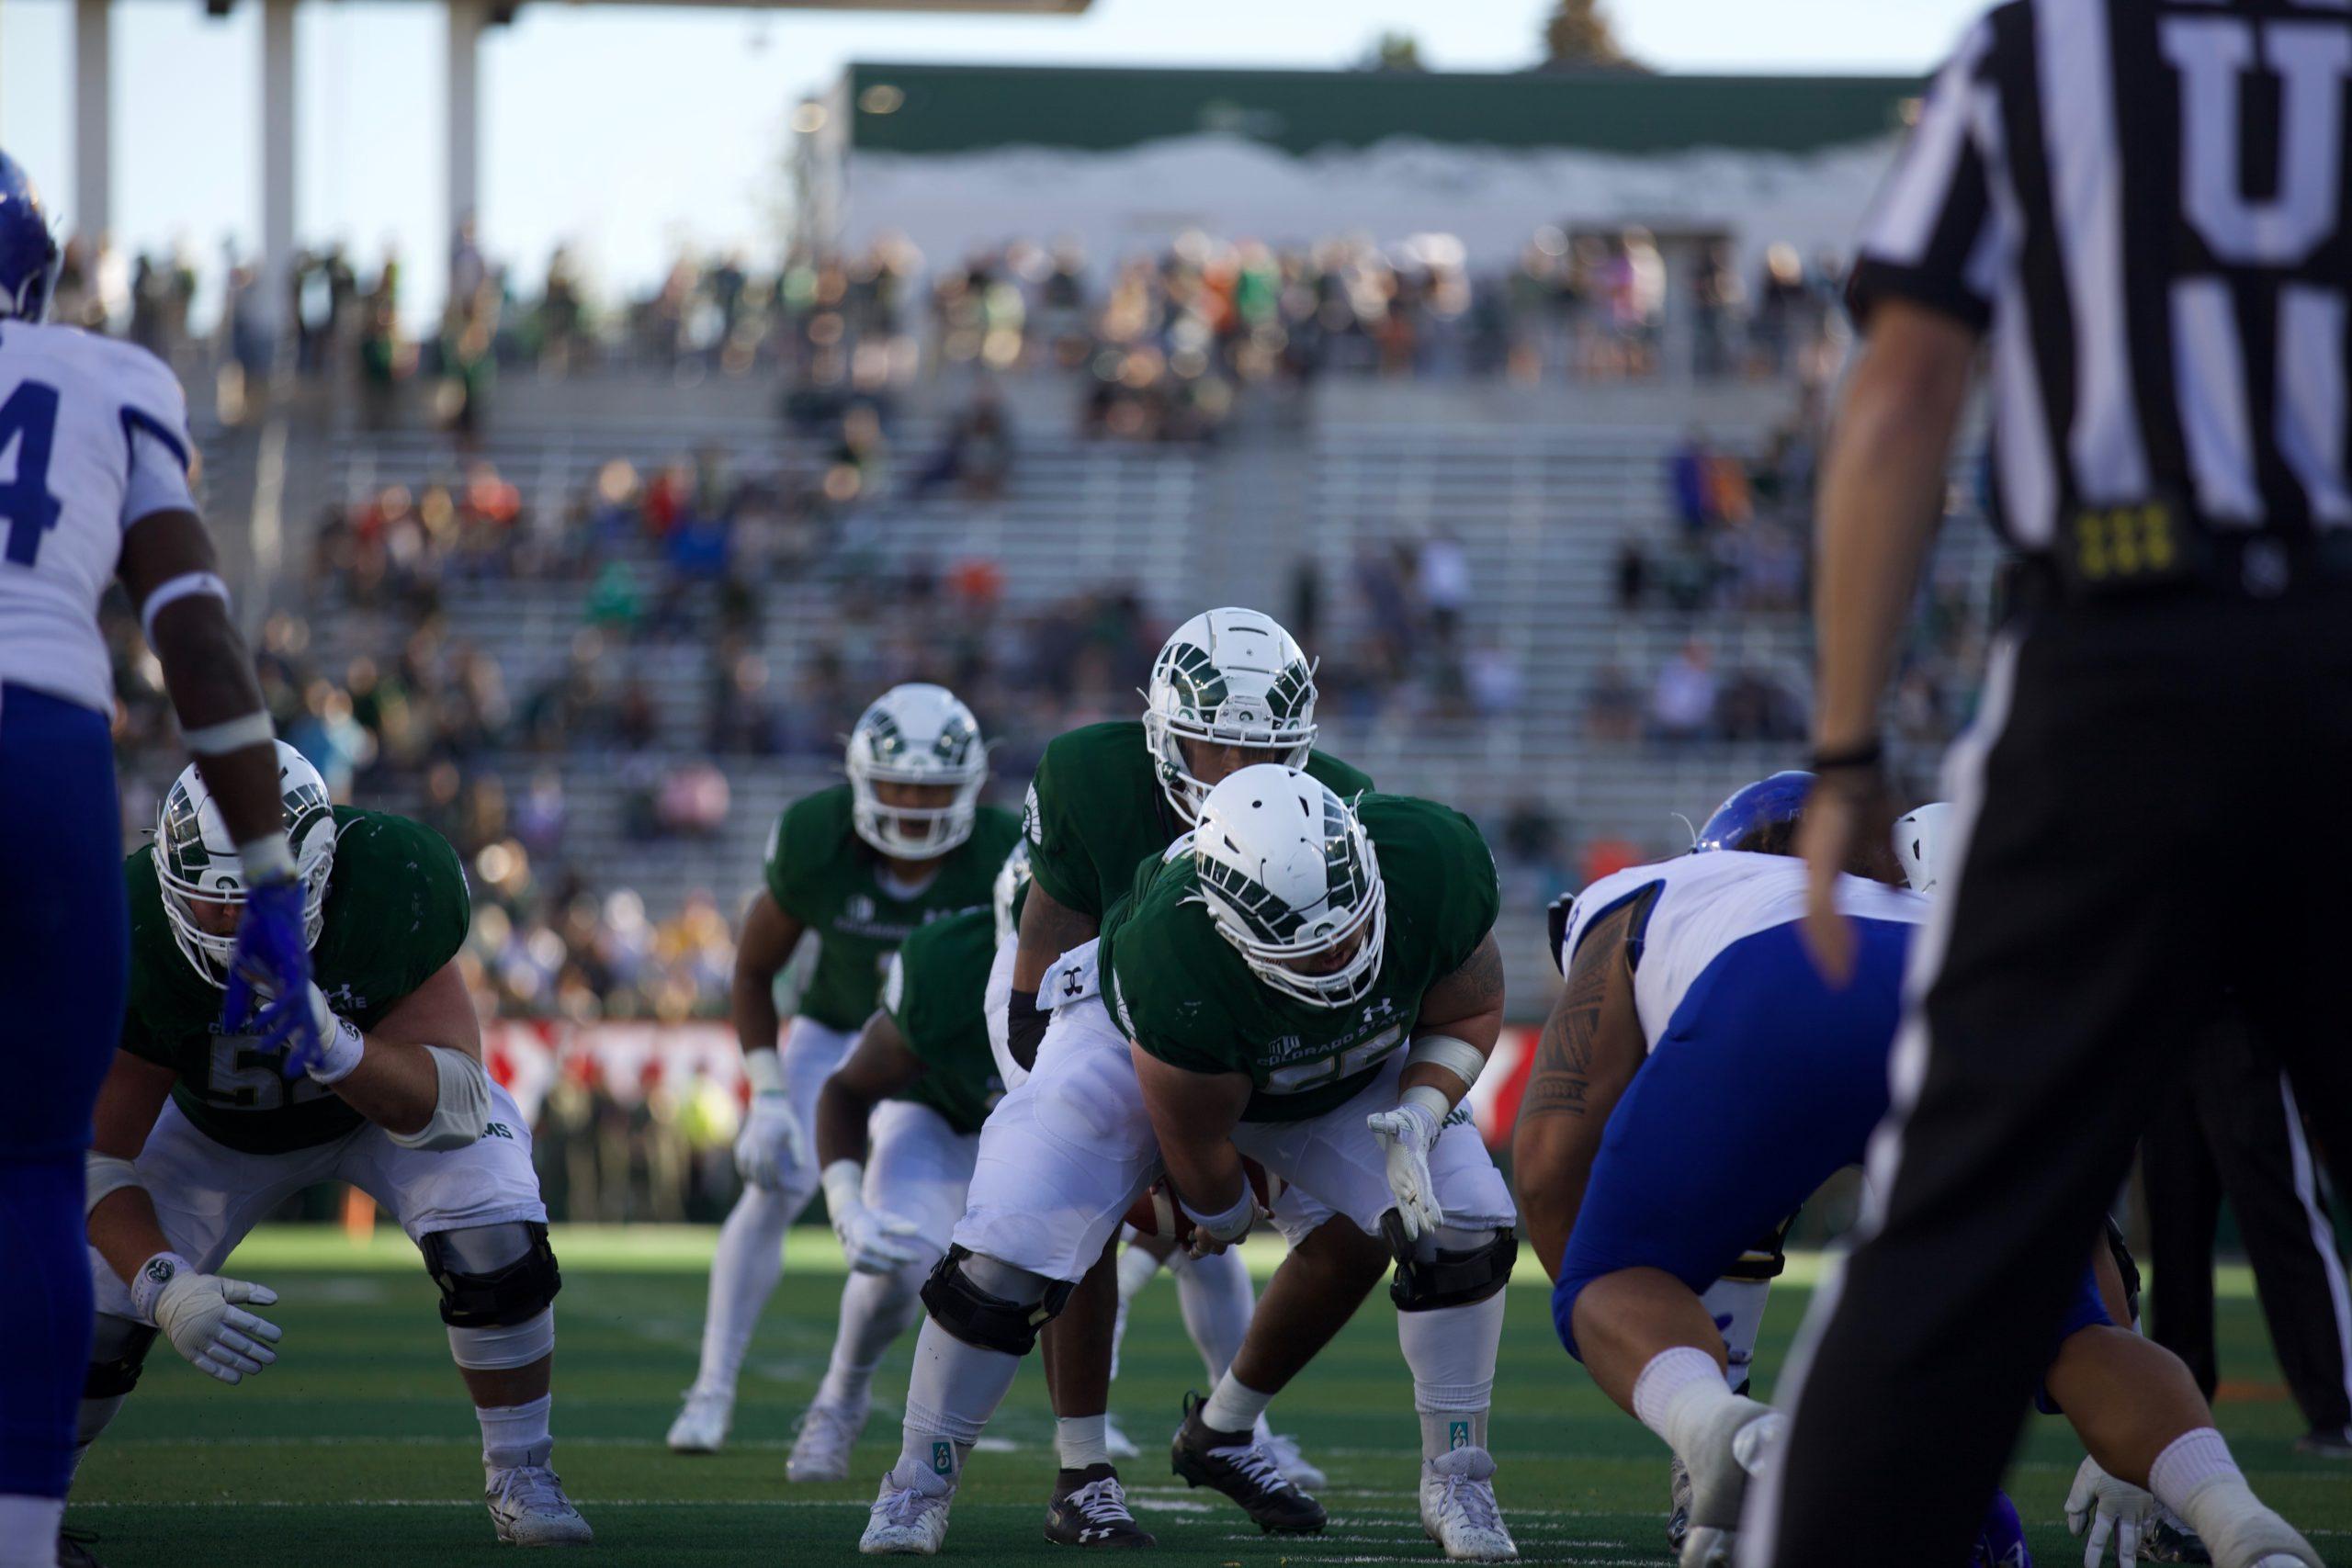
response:
<path id="1" fill-rule="evenodd" d="M 122 1408 L 158 1333 L 221 1382 L 261 1373 L 278 1328 L 249 1307 L 278 1298 L 212 1269 L 287 1197 L 346 1180 L 383 1204 L 440 1286 L 499 1540 L 583 1544 L 588 1523 L 548 1467 L 562 1281 L 532 1131 L 482 1072 L 456 969 L 466 872 L 430 827 L 332 806 L 318 769 L 285 743 L 278 780 L 313 966 L 301 1001 L 327 1046 L 296 1067 L 287 1030 L 221 1025 L 245 863 L 188 769 L 165 795 L 155 842 L 125 863 L 132 999 L 99 1091 L 99 1326 L 80 1439 L 96 1441 Z"/>

